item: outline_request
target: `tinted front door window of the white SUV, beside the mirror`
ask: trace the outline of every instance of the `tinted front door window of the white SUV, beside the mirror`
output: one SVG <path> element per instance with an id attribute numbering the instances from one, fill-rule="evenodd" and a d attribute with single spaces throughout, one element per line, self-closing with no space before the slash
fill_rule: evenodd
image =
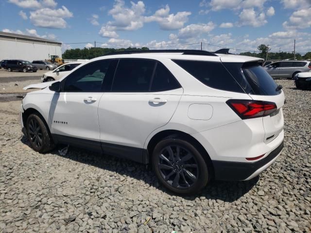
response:
<path id="1" fill-rule="evenodd" d="M 65 92 L 101 92 L 111 61 L 87 64 L 71 73 L 65 80 Z M 111 72 L 110 72 L 111 73 Z"/>

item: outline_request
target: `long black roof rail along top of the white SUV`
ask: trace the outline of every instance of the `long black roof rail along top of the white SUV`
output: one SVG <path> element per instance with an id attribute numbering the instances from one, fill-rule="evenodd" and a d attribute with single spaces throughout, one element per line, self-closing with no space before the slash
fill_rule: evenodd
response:
<path id="1" fill-rule="evenodd" d="M 182 52 L 185 55 L 203 55 L 203 56 L 217 56 L 215 53 L 208 52 L 205 50 L 125 50 L 120 52 L 111 52 L 107 55 L 117 55 L 117 54 L 134 54 L 134 53 L 166 53 L 166 52 Z"/>

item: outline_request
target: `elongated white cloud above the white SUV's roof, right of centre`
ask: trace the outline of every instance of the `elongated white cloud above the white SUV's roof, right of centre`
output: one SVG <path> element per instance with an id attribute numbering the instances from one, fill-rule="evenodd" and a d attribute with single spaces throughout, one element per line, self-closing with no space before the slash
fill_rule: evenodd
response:
<path id="1" fill-rule="evenodd" d="M 178 32 L 178 38 L 196 37 L 202 33 L 209 33 L 216 25 L 213 22 L 207 24 L 190 24 L 182 28 Z"/>

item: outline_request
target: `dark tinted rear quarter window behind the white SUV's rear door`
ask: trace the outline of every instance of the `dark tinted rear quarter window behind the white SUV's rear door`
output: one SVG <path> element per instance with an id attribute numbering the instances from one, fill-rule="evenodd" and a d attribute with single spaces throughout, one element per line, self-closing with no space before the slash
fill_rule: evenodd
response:
<path id="1" fill-rule="evenodd" d="M 244 93 L 241 86 L 235 81 L 235 79 L 220 62 L 189 60 L 173 60 L 173 62 L 182 67 L 201 83 L 204 83 L 209 87 L 225 91 Z"/>

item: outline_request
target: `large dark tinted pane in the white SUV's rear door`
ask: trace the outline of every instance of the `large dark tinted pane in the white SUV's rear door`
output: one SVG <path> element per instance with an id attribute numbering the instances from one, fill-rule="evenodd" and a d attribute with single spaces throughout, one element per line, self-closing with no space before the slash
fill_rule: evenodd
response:
<path id="1" fill-rule="evenodd" d="M 143 59 L 121 59 L 113 79 L 113 92 L 148 92 L 156 62 Z"/>

